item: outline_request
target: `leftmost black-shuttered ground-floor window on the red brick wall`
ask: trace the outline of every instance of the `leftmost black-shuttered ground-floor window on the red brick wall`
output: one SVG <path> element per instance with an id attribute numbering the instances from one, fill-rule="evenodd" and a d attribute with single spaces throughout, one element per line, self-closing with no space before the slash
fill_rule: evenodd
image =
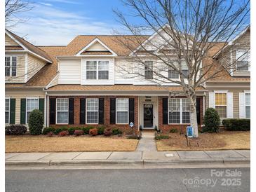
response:
<path id="1" fill-rule="evenodd" d="M 57 102 L 57 123 L 67 124 L 69 123 L 69 99 L 58 98 Z"/>

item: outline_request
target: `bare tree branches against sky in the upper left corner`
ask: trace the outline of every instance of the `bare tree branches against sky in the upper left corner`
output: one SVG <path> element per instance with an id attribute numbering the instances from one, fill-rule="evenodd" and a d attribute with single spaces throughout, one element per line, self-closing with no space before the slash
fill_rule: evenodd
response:
<path id="1" fill-rule="evenodd" d="M 32 6 L 31 1 L 22 1 L 22 0 L 6 0 L 5 2 L 5 21 L 6 27 L 13 27 L 18 22 L 23 22 L 24 20 L 18 18 L 19 13 L 30 11 Z"/>

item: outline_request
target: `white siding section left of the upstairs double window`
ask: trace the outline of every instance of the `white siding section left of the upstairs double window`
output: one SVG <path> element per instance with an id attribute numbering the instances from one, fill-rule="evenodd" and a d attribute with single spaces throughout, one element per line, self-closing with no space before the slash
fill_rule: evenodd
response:
<path id="1" fill-rule="evenodd" d="M 59 84 L 81 83 L 81 60 L 60 60 Z"/>

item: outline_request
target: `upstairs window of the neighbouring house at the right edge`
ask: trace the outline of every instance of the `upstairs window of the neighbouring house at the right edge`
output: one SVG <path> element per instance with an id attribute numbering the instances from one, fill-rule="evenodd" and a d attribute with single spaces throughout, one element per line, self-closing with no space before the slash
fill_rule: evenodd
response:
<path id="1" fill-rule="evenodd" d="M 237 71 L 249 71 L 250 56 L 247 50 L 236 50 Z"/>

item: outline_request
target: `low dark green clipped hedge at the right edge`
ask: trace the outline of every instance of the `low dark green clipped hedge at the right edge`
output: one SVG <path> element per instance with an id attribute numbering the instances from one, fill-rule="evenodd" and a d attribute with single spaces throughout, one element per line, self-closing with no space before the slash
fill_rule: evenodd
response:
<path id="1" fill-rule="evenodd" d="M 250 130 L 250 119 L 248 118 L 227 118 L 222 121 L 222 124 L 226 130 Z"/>

